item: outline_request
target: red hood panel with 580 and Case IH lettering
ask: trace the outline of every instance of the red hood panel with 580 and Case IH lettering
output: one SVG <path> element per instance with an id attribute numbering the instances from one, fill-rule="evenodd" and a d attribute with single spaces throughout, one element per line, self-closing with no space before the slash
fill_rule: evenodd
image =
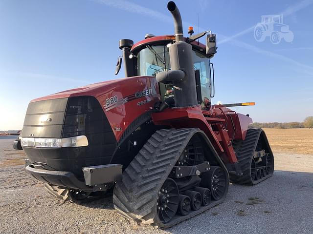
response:
<path id="1" fill-rule="evenodd" d="M 143 91 L 147 91 L 142 94 Z M 40 101 L 55 98 L 69 98 L 77 96 L 93 96 L 100 102 L 105 112 L 116 140 L 118 141 L 125 129 L 135 118 L 153 108 L 160 100 L 158 83 L 154 77 L 122 78 L 52 94 L 32 100 Z M 107 105 L 106 100 L 117 97 L 113 104 Z"/>

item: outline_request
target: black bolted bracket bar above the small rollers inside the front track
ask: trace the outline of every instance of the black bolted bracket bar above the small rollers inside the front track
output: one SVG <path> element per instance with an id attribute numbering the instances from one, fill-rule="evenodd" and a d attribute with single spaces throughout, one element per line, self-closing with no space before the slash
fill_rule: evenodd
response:
<path id="1" fill-rule="evenodd" d="M 210 170 L 209 162 L 202 162 L 201 164 L 195 166 L 174 166 L 169 176 L 172 178 L 181 178 L 186 176 L 200 176 L 201 173 L 207 172 L 209 170 Z"/>

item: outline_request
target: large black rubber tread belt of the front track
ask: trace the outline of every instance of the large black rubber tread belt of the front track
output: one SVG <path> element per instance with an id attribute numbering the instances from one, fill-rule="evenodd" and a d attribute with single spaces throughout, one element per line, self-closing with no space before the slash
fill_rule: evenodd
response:
<path id="1" fill-rule="evenodd" d="M 113 205 L 120 215 L 143 224 L 171 227 L 224 200 L 225 196 L 189 215 L 176 215 L 166 224 L 163 224 L 157 216 L 158 191 L 191 137 L 198 132 L 203 133 L 195 128 L 161 129 L 152 135 L 124 171 L 122 181 L 115 185 Z"/>

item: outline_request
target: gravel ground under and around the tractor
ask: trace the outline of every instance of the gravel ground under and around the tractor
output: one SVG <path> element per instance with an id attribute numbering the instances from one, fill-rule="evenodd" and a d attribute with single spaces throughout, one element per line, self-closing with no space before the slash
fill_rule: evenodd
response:
<path id="1" fill-rule="evenodd" d="M 23 166 L 14 166 L 24 155 L 12 141 L 0 139 L 0 234 L 313 233 L 312 155 L 276 153 L 271 178 L 253 187 L 231 184 L 224 203 L 160 230 L 117 215 L 112 197 L 78 205 L 48 195 Z"/>

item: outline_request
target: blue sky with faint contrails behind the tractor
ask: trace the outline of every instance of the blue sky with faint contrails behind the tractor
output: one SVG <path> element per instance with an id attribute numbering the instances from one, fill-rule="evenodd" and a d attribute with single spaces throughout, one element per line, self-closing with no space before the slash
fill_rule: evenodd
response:
<path id="1" fill-rule="evenodd" d="M 313 0 L 176 1 L 188 26 L 217 34 L 213 102 L 254 121 L 313 116 Z M 28 102 L 116 78 L 118 40 L 172 34 L 167 1 L 0 0 L 0 130 L 21 129 Z M 262 15 L 283 14 L 292 42 L 254 39 Z M 202 42 L 204 40 L 202 39 Z M 123 78 L 123 71 L 117 78 Z"/>

